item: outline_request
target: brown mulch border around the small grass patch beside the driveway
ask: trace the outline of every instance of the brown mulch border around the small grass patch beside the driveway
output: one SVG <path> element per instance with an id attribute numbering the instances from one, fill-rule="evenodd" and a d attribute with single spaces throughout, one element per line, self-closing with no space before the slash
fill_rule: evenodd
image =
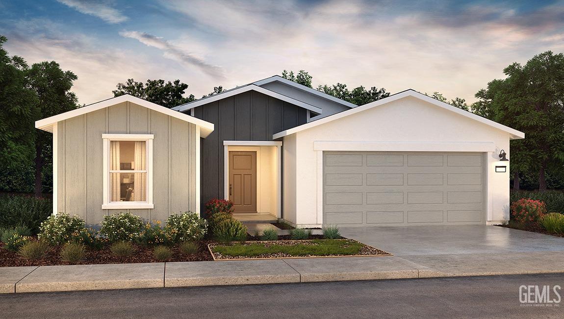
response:
<path id="1" fill-rule="evenodd" d="M 283 236 L 279 236 L 280 237 Z M 263 241 L 261 243 L 263 243 L 266 247 L 271 246 L 271 245 L 280 245 L 280 246 L 286 246 L 286 245 L 297 245 L 297 244 L 301 244 L 301 245 L 316 245 L 316 243 L 312 242 L 311 239 L 323 239 L 323 236 L 321 235 L 316 235 L 316 236 L 310 236 L 309 240 L 292 240 L 291 238 L 289 238 L 289 236 L 284 236 L 285 238 L 281 238 L 281 240 L 277 240 L 277 241 Z M 317 237 L 317 238 L 314 238 Z M 328 255 L 323 255 L 323 256 L 319 256 L 319 255 L 298 255 L 298 256 L 293 256 L 293 255 L 289 255 L 289 254 L 284 254 L 284 253 L 275 253 L 275 254 L 264 254 L 264 255 L 258 255 L 258 256 L 232 256 L 232 255 L 222 255 L 219 254 L 219 252 L 213 251 L 214 247 L 217 246 L 222 246 L 225 245 L 223 243 L 210 243 L 209 247 L 211 249 L 211 251 L 213 251 L 214 254 L 214 258 L 215 260 L 234 260 L 234 259 L 281 259 L 281 258 L 324 258 L 324 257 L 343 257 L 343 256 L 392 256 L 392 254 L 390 254 L 389 252 L 386 252 L 384 250 L 380 250 L 377 249 L 375 247 L 372 246 L 368 246 L 365 245 L 364 243 L 355 241 L 355 240 L 347 240 L 346 238 L 343 238 L 343 241 L 350 241 L 350 242 L 355 242 L 355 243 L 360 243 L 362 244 L 362 248 L 360 249 L 360 251 L 358 252 L 358 254 L 354 254 L 354 255 L 340 255 L 340 254 L 328 254 Z M 253 241 L 248 241 L 248 242 L 243 242 L 241 243 L 241 245 L 246 246 L 246 245 L 253 245 L 256 244 L 257 242 L 253 242 Z"/>

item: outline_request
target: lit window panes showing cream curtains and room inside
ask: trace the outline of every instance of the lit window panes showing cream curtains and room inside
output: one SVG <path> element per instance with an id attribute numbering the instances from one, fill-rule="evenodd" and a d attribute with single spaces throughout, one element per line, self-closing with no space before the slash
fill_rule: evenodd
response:
<path id="1" fill-rule="evenodd" d="M 146 141 L 110 142 L 112 202 L 147 201 Z"/>

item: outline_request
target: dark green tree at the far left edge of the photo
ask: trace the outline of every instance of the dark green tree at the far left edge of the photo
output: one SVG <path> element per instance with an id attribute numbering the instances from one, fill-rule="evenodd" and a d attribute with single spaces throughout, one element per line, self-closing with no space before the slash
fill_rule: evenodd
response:
<path id="1" fill-rule="evenodd" d="M 30 192 L 38 99 L 27 87 L 27 63 L 8 55 L 6 41 L 0 36 L 0 185 Z"/>

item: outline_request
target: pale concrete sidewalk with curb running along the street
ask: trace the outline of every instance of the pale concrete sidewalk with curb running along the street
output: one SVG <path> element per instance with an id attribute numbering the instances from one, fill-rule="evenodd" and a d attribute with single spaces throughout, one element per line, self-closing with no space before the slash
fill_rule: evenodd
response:
<path id="1" fill-rule="evenodd" d="M 564 273 L 564 252 L 0 268 L 0 293 Z"/>

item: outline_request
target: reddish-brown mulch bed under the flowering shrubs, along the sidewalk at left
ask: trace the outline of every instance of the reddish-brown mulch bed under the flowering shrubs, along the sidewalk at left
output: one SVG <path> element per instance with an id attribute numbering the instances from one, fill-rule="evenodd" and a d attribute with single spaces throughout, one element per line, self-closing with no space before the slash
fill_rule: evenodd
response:
<path id="1" fill-rule="evenodd" d="M 172 258 L 166 262 L 204 262 L 213 260 L 208 250 L 208 243 L 211 241 L 199 242 L 200 249 L 196 254 L 183 254 L 178 246 L 173 247 Z M 45 256 L 35 260 L 21 258 L 16 252 L 4 248 L 5 244 L 0 242 L 0 267 L 14 266 L 45 266 L 45 265 L 90 265 L 90 264 L 130 264 L 130 263 L 158 263 L 153 257 L 153 247 L 135 245 L 135 254 L 120 258 L 112 254 L 109 245 L 102 250 L 87 249 L 86 258 L 78 263 L 63 262 L 60 258 L 61 247 L 52 247 Z"/>

